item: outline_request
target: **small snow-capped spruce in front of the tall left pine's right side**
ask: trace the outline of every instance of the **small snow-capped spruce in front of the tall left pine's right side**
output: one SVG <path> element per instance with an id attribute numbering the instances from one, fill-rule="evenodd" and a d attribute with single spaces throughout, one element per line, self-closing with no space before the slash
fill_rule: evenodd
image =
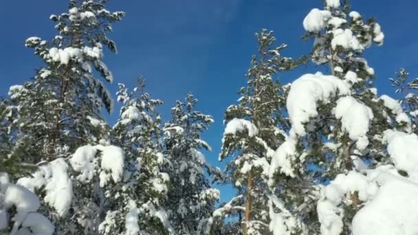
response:
<path id="1" fill-rule="evenodd" d="M 100 232 L 103 218 L 109 214 L 110 205 L 118 197 L 115 187 L 122 183 L 126 168 L 124 159 L 122 148 L 104 140 L 94 146 L 80 146 L 69 159 L 74 179 L 74 221 L 71 223 L 76 231 L 81 234 Z"/>

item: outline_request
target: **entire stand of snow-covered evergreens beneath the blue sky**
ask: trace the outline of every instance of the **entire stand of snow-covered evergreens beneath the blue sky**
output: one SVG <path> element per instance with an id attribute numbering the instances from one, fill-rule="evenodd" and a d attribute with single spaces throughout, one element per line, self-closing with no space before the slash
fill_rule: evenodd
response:
<path id="1" fill-rule="evenodd" d="M 103 120 L 113 106 L 103 47 L 117 52 L 107 34 L 124 16 L 106 2 L 70 0 L 50 17 L 52 41 L 25 41 L 44 65 L 0 100 L 0 234 L 416 234 L 418 78 L 401 69 L 390 81 L 402 97 L 378 96 L 363 58 L 384 41 L 374 19 L 324 0 L 303 26 L 330 75 L 285 86 L 276 74 L 305 57 L 256 34 L 247 85 L 225 112 L 222 174 L 203 155 L 214 120 L 192 94 L 162 127 L 162 101 L 139 78 L 132 91 L 119 84 L 115 126 Z M 215 209 L 210 177 L 236 197 Z"/>

